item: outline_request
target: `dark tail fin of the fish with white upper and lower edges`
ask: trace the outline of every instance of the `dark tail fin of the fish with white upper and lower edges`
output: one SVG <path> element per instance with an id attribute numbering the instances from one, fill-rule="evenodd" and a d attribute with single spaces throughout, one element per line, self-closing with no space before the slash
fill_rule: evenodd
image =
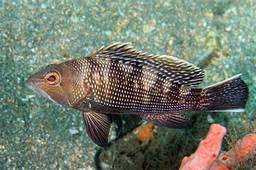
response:
<path id="1" fill-rule="evenodd" d="M 203 88 L 209 101 L 207 111 L 241 112 L 245 110 L 248 88 L 240 78 L 241 75 L 235 75 L 230 79 Z"/>

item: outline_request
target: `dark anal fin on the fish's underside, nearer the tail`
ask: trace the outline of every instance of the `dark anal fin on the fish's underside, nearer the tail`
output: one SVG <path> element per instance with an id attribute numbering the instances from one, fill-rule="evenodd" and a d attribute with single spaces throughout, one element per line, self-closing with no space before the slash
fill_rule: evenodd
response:
<path id="1" fill-rule="evenodd" d="M 190 119 L 183 114 L 140 115 L 140 117 L 166 128 L 185 129 L 192 125 Z"/>

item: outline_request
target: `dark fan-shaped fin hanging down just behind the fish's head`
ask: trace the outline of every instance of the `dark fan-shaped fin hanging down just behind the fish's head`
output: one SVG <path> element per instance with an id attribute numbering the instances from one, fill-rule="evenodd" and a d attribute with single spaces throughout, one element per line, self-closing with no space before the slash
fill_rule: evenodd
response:
<path id="1" fill-rule="evenodd" d="M 101 147 L 107 145 L 110 131 L 110 117 L 96 112 L 82 112 L 84 125 L 91 140 Z"/>

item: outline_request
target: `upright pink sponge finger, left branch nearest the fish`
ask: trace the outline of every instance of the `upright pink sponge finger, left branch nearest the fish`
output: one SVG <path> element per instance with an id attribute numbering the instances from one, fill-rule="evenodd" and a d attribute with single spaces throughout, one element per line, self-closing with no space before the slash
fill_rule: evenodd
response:
<path id="1" fill-rule="evenodd" d="M 182 160 L 180 169 L 210 169 L 220 153 L 225 133 L 224 126 L 212 124 L 206 138 L 200 141 L 197 151 Z"/>

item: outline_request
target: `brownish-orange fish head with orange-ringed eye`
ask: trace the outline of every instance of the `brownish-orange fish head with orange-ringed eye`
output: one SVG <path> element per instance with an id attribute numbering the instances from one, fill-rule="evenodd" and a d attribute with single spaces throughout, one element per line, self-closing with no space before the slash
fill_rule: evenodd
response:
<path id="1" fill-rule="evenodd" d="M 80 75 L 75 69 L 60 65 L 49 65 L 43 70 L 31 75 L 26 86 L 34 93 L 49 100 L 72 107 L 72 84 L 79 80 Z"/>

